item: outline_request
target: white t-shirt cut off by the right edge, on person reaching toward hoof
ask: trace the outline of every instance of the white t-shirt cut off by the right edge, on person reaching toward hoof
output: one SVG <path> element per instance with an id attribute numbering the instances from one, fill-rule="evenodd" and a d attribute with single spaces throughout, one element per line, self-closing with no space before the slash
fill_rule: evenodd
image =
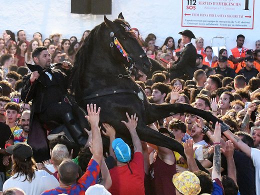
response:
<path id="1" fill-rule="evenodd" d="M 251 147 L 251 159 L 255 168 L 255 191 L 260 195 L 260 150 Z"/>

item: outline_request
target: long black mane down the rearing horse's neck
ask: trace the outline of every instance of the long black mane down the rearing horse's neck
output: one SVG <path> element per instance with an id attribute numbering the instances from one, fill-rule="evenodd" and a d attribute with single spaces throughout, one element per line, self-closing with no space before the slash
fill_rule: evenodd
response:
<path id="1" fill-rule="evenodd" d="M 104 22 L 101 24 L 95 26 L 90 33 L 85 38 L 84 42 L 80 46 L 78 52 L 75 56 L 74 66 L 71 71 L 70 75 L 70 92 L 74 93 L 76 96 L 81 95 L 80 90 L 80 78 L 83 76 L 85 67 L 90 63 L 92 52 L 93 52 L 93 46 L 94 46 L 94 36 L 96 36 L 96 33 L 100 30 L 101 27 L 103 27 Z"/>

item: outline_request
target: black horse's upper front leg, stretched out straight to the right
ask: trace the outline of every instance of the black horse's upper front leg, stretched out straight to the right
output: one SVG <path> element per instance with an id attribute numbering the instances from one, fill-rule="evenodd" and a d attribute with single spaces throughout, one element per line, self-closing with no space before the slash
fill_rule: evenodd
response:
<path id="1" fill-rule="evenodd" d="M 209 121 L 213 122 L 213 124 L 215 124 L 215 122 L 218 121 L 221 124 L 222 131 L 225 131 L 229 128 L 227 124 L 225 124 L 222 120 L 214 116 L 211 112 L 192 107 L 187 103 L 172 103 L 172 104 L 150 103 L 146 109 L 145 122 L 146 124 L 150 124 L 158 119 L 171 116 L 175 113 L 184 113 L 184 112 L 198 115 L 208 122 Z"/>

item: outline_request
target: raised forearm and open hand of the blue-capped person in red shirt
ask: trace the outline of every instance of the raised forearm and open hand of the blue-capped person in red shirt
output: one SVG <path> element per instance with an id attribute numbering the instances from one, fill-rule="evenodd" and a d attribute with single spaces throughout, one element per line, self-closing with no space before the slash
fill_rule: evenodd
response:
<path id="1" fill-rule="evenodd" d="M 134 147 L 134 152 L 139 151 L 142 153 L 141 141 L 140 141 L 140 139 L 137 135 L 136 129 L 135 129 L 137 126 L 138 117 L 136 116 L 136 113 L 134 113 L 134 115 L 131 115 L 131 117 L 130 117 L 127 112 L 126 112 L 126 117 L 128 119 L 128 122 L 125 122 L 123 120 L 121 122 L 125 124 L 125 126 L 127 127 L 127 129 L 130 132 L 133 147 Z"/>

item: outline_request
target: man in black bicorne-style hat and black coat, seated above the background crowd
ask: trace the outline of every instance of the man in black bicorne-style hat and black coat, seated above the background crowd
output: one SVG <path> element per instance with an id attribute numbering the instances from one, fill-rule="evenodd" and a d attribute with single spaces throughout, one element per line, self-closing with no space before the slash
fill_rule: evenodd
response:
<path id="1" fill-rule="evenodd" d="M 184 44 L 184 49 L 178 60 L 174 61 L 172 67 L 169 69 L 171 79 L 180 77 L 183 74 L 186 74 L 188 79 L 192 79 L 196 67 L 197 52 L 196 48 L 191 43 L 191 38 L 195 38 L 195 36 L 190 30 L 184 30 L 179 32 L 179 34 L 182 35 L 181 40 Z"/>

